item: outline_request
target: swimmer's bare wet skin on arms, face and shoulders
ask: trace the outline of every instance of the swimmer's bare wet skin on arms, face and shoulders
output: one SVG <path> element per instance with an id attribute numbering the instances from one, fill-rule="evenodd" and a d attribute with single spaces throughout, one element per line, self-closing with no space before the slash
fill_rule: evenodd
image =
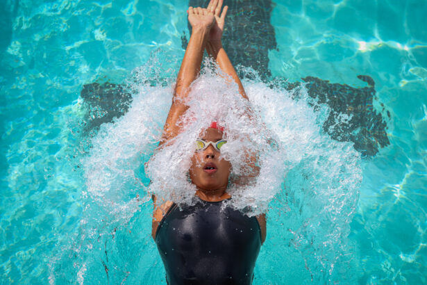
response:
<path id="1" fill-rule="evenodd" d="M 190 92 L 192 82 L 199 75 L 201 61 L 203 59 L 203 51 L 206 49 L 218 64 L 222 72 L 231 76 L 233 81 L 239 86 L 239 93 L 244 99 L 248 99 L 242 82 L 240 81 L 230 59 L 228 58 L 224 47 L 221 44 L 221 36 L 224 31 L 224 20 L 227 13 L 227 6 L 224 7 L 221 13 L 223 0 L 211 0 L 208 8 L 193 8 L 187 10 L 188 21 L 192 26 L 192 35 L 188 42 L 185 56 L 181 63 L 181 68 L 176 78 L 176 86 L 174 89 L 174 99 L 167 115 L 165 122 L 162 140 L 159 147 L 162 147 L 167 141 L 174 138 L 182 131 L 182 125 L 179 124 L 181 116 L 187 111 L 188 106 L 183 104 Z M 201 139 L 207 141 L 221 140 L 222 133 L 217 129 L 208 128 L 200 134 Z M 195 143 L 195 142 L 194 142 Z M 249 156 L 250 164 L 255 167 L 255 160 L 251 162 L 252 156 Z M 231 172 L 231 163 L 221 159 L 220 153 L 209 145 L 205 150 L 196 152 L 191 158 L 190 179 L 196 186 L 196 195 L 201 199 L 209 202 L 217 202 L 231 197 L 226 193 L 228 177 Z M 207 163 L 213 163 L 215 170 L 206 168 Z M 257 172 L 258 173 L 258 172 Z M 256 174 L 249 175 L 249 178 L 256 177 Z M 242 183 L 244 183 L 242 179 Z M 247 180 L 247 179 L 246 179 Z M 239 181 L 235 181 L 236 184 Z M 162 220 L 163 215 L 173 204 L 171 201 L 158 200 L 156 195 L 153 195 L 154 211 L 153 211 L 153 227 L 151 234 L 153 238 L 156 236 L 156 229 Z M 265 214 L 257 216 L 262 231 L 262 242 L 265 241 L 266 222 Z"/>

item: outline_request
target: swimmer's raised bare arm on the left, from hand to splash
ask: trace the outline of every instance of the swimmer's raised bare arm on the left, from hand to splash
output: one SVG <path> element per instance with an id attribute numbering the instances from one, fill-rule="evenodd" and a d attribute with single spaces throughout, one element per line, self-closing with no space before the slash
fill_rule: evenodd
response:
<path id="1" fill-rule="evenodd" d="M 209 8 L 209 6 L 208 6 Z M 188 21 L 192 26 L 192 35 L 188 42 L 183 63 L 176 78 L 176 86 L 172 105 L 167 115 L 160 145 L 174 138 L 181 131 L 182 126 L 178 120 L 187 111 L 185 98 L 190 91 L 190 85 L 200 72 L 203 51 L 206 48 L 206 40 L 210 28 L 215 23 L 215 17 L 207 8 L 192 8 L 187 10 Z"/>

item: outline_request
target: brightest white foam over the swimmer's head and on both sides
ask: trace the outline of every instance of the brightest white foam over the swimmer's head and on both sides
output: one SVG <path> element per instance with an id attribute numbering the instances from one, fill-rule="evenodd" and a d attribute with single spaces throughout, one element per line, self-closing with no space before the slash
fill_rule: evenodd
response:
<path id="1" fill-rule="evenodd" d="M 221 149 L 221 156 L 232 165 L 228 192 L 237 209 L 251 206 L 253 214 L 267 211 L 271 199 L 283 190 L 287 172 L 308 158 L 313 168 L 317 167 L 316 162 L 320 168 L 325 164 L 330 167 L 328 173 L 323 173 L 325 177 L 308 177 L 313 183 L 324 184 L 332 179 L 335 168 L 356 167 L 354 163 L 349 165 L 346 152 L 351 149 L 346 144 L 321 133 L 319 114 L 308 105 L 308 97 L 302 95 L 295 100 L 293 92 L 267 88 L 256 80 L 244 82 L 247 101 L 239 95 L 237 84 L 224 74 L 218 76 L 220 72 L 210 68 L 212 65 L 206 66 L 192 84 L 187 99 L 190 108 L 181 118 L 185 129 L 153 156 L 169 111 L 172 88 L 134 86 L 138 92 L 128 113 L 114 124 L 101 126 L 92 140 L 91 155 L 83 161 L 87 191 L 92 197 L 110 201 L 115 211 L 128 206 L 128 193 L 135 193 L 135 188 L 140 195 L 148 191 L 178 204 L 192 203 L 196 188 L 188 181 L 187 172 L 194 140 L 212 121 L 226 129 L 228 143 Z M 257 152 L 260 173 L 255 181 L 240 186 L 233 183 L 233 177 L 249 171 L 245 149 Z M 139 177 L 137 170 L 149 156 L 146 174 L 151 185 L 147 189 L 140 183 L 144 177 Z M 320 161 L 324 157 L 327 158 Z"/>

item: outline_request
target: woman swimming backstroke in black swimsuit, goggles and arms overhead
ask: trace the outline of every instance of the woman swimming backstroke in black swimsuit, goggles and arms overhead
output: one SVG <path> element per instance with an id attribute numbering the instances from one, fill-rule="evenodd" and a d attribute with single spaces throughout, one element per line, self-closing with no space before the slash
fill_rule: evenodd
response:
<path id="1" fill-rule="evenodd" d="M 228 9 L 225 6 L 221 13 L 221 6 L 222 0 L 211 0 L 208 8 L 187 10 L 192 35 L 178 72 L 159 147 L 181 132 L 179 119 L 187 111 L 185 99 L 199 74 L 205 49 L 238 84 L 240 95 L 248 99 L 221 44 Z M 232 199 L 227 193 L 231 163 L 221 158 L 221 146 L 226 143 L 223 131 L 212 122 L 196 141 L 189 173 L 199 202 L 178 207 L 170 201 L 160 202 L 153 195 L 152 235 L 165 265 L 168 284 L 252 282 L 253 268 L 266 236 L 265 215 L 250 218 L 231 207 L 221 209 L 226 200 Z"/>

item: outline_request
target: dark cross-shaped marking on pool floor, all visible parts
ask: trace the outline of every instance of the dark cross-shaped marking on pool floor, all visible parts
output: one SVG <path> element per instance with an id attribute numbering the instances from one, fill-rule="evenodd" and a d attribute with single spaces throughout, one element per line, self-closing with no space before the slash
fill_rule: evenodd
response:
<path id="1" fill-rule="evenodd" d="M 190 0 L 189 6 L 206 6 L 208 0 Z M 270 24 L 274 3 L 269 0 L 247 0 L 244 5 L 237 0 L 225 0 L 228 16 L 223 44 L 234 65 L 252 67 L 263 81 L 271 82 L 268 70 L 268 51 L 276 49 L 274 26 Z M 245 17 L 240 17 L 244 15 Z M 189 25 L 190 33 L 191 27 Z M 187 47 L 187 36 L 181 37 L 183 48 Z M 239 74 L 241 77 L 246 74 Z M 373 107 L 376 90 L 374 80 L 367 75 L 358 78 L 367 83 L 367 87 L 354 88 L 347 84 L 330 83 L 316 77 L 307 76 L 300 82 L 289 83 L 285 78 L 269 83 L 274 87 L 292 90 L 304 85 L 308 95 L 317 99 L 319 104 L 327 104 L 330 113 L 323 129 L 331 138 L 338 141 L 351 141 L 362 156 L 374 156 L 380 147 L 390 144 L 387 138 L 387 124 L 382 114 L 388 111 L 376 111 Z M 151 83 L 156 84 L 156 83 Z M 132 96 L 124 86 L 112 83 L 90 83 L 83 86 L 81 97 L 87 108 L 87 128 L 97 128 L 104 122 L 112 122 L 128 111 Z M 383 106 L 383 105 L 382 105 Z M 316 106 L 313 106 L 316 108 Z"/>

